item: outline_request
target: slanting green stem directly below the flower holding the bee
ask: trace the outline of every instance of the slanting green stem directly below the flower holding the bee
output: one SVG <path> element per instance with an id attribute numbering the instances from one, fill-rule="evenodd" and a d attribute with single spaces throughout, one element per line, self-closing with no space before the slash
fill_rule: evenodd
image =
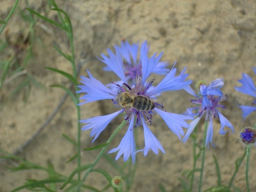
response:
<path id="1" fill-rule="evenodd" d="M 101 156 L 103 155 L 103 153 L 105 152 L 105 150 L 107 149 L 107 147 L 109 146 L 109 144 L 113 141 L 113 139 L 115 138 L 116 134 L 118 133 L 118 131 L 120 131 L 123 126 L 126 125 L 126 121 L 123 121 L 117 128 L 116 130 L 110 135 L 108 141 L 107 141 L 107 145 L 105 147 L 103 147 L 99 153 L 99 155 L 95 158 L 94 162 L 92 163 L 92 165 L 89 167 L 89 169 L 87 169 L 87 171 L 84 174 L 83 179 L 81 180 L 81 182 L 79 183 L 79 185 L 77 186 L 77 191 L 79 191 L 79 189 L 81 188 L 81 186 L 83 185 L 85 179 L 87 178 L 87 176 L 89 175 L 89 173 L 91 172 L 91 170 L 93 169 L 93 167 L 98 163 L 98 161 L 100 160 Z"/>

